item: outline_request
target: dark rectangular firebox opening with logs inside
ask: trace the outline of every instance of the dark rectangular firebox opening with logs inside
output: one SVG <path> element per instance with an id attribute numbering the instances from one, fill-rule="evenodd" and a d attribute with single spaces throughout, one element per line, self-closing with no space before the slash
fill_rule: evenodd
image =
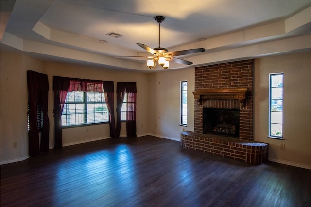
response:
<path id="1" fill-rule="evenodd" d="M 240 110 L 203 108 L 203 134 L 239 137 Z"/>

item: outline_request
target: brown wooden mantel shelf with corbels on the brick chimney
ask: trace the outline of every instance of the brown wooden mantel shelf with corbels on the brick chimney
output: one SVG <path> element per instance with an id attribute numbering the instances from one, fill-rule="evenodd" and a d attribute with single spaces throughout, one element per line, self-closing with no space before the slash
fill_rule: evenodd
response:
<path id="1" fill-rule="evenodd" d="M 239 99 L 242 106 L 246 102 L 247 88 L 237 89 L 201 89 L 192 92 L 194 99 L 202 105 L 203 99 Z"/>

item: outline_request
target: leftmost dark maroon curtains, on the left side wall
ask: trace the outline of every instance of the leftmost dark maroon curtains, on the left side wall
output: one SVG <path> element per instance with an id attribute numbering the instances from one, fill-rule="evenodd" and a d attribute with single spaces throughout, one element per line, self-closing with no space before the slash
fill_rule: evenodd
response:
<path id="1" fill-rule="evenodd" d="M 46 74 L 27 71 L 27 89 L 29 96 L 29 155 L 39 155 L 49 149 L 50 121 L 48 117 L 49 80 Z M 37 121 L 38 104 L 43 115 L 41 147 L 39 147 L 39 130 Z"/>

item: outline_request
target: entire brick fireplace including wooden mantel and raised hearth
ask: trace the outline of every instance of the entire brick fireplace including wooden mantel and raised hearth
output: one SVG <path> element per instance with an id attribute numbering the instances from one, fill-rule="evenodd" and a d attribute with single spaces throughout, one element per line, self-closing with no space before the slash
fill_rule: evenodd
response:
<path id="1" fill-rule="evenodd" d="M 267 161 L 268 144 L 253 141 L 253 60 L 196 67 L 194 84 L 194 132 L 181 132 L 181 146 L 251 164 Z M 237 137 L 206 134 L 204 119 L 211 116 L 204 113 L 211 109 L 238 114 Z"/>

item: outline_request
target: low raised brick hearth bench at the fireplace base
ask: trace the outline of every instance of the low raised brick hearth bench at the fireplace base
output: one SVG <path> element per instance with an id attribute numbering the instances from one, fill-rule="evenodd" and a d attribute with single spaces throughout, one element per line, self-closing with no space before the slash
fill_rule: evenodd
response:
<path id="1" fill-rule="evenodd" d="M 268 144 L 219 135 L 181 132 L 181 147 L 188 150 L 220 155 L 250 164 L 268 161 Z"/>

